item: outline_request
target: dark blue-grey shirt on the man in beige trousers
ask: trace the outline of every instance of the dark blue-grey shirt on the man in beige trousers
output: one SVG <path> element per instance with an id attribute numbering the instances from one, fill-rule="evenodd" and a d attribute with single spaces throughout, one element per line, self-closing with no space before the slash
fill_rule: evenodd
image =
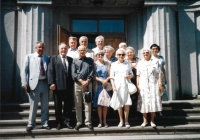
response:
<path id="1" fill-rule="evenodd" d="M 87 80 L 93 78 L 95 74 L 94 62 L 92 58 L 76 58 L 72 63 L 72 77 L 75 81 L 78 79 Z"/>

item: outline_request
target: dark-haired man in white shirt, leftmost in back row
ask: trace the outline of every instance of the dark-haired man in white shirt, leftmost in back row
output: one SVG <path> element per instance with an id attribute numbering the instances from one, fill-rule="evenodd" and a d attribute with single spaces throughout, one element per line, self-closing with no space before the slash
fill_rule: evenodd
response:
<path id="1" fill-rule="evenodd" d="M 74 58 L 75 57 L 75 54 L 77 52 L 77 38 L 76 37 L 73 37 L 73 36 L 70 36 L 69 37 L 69 50 L 67 52 L 67 56 L 71 57 L 71 58 Z"/>

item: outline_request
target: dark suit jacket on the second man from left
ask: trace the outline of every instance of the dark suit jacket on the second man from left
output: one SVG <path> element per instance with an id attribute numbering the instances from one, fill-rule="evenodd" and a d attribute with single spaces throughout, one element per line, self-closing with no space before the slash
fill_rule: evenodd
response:
<path id="1" fill-rule="evenodd" d="M 72 58 L 67 56 L 68 72 L 65 73 L 60 55 L 54 55 L 48 66 L 48 84 L 56 84 L 56 90 L 73 90 L 73 79 L 71 75 Z"/>

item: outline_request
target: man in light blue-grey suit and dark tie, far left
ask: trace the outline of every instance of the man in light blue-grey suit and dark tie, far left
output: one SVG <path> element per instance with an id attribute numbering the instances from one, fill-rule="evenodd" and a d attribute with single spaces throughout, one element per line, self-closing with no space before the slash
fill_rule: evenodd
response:
<path id="1" fill-rule="evenodd" d="M 36 42 L 35 53 L 25 57 L 21 73 L 23 89 L 27 92 L 30 102 L 29 121 L 26 128 L 30 132 L 36 125 L 38 101 L 41 101 L 41 124 L 43 129 L 50 130 L 49 120 L 49 90 L 47 84 L 47 66 L 49 57 L 44 55 L 45 45 Z"/>

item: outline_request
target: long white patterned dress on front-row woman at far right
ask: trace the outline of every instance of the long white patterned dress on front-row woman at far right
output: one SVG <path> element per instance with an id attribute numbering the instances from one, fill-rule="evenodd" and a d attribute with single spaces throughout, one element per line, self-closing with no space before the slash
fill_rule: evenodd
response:
<path id="1" fill-rule="evenodd" d="M 137 75 L 140 76 L 137 111 L 141 113 L 162 111 L 160 90 L 158 85 L 161 73 L 158 60 L 141 60 L 138 63 Z"/>

